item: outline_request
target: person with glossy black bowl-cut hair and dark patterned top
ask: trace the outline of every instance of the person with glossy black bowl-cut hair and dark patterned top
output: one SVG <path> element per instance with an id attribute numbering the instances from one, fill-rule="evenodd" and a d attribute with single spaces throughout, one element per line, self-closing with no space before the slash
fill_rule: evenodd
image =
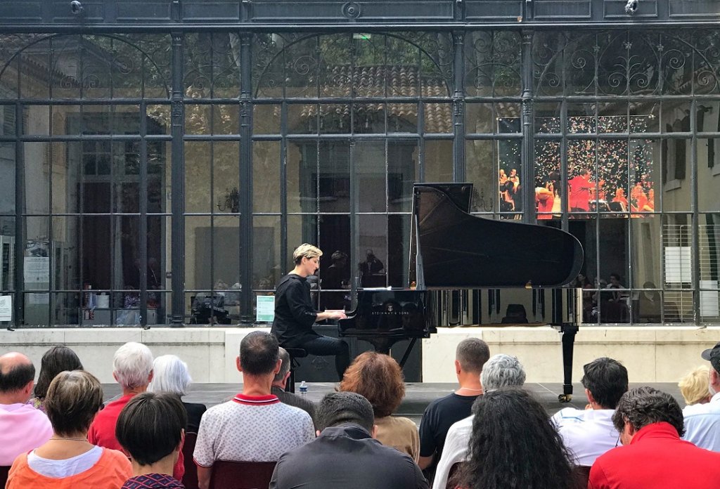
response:
<path id="1" fill-rule="evenodd" d="M 117 417 L 115 435 L 130 454 L 133 477 L 121 489 L 184 489 L 171 474 L 187 422 L 185 406 L 174 393 L 146 392 L 128 401 Z"/>

